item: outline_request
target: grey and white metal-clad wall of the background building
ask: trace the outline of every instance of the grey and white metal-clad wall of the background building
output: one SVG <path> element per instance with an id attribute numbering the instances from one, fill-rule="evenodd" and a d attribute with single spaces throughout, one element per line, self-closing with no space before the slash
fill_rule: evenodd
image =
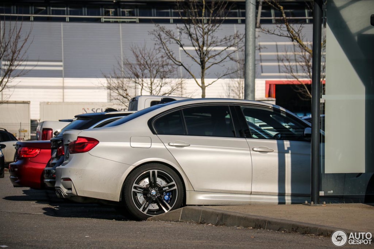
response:
<path id="1" fill-rule="evenodd" d="M 39 118 L 39 102 L 108 102 L 107 91 L 101 85 L 105 83 L 103 74 L 110 73 L 117 65 L 121 51 L 123 57 L 131 56 L 131 44 L 154 44 L 149 34 L 154 29 L 153 24 L 24 22 L 23 31 L 29 31 L 31 25 L 32 43 L 27 51 L 29 71 L 13 81 L 14 87 L 2 95 L 10 96 L 9 100 L 29 100 L 32 119 Z M 165 26 L 177 32 L 176 24 Z M 244 24 L 224 24 L 218 35 L 231 35 L 235 30 L 244 32 L 244 28 Z M 312 40 L 312 24 L 304 25 L 303 32 L 306 40 Z M 285 51 L 285 46 L 289 51 L 293 45 L 287 38 L 261 32 L 257 32 L 257 44 L 261 49 L 256 50 L 256 98 L 264 98 L 266 79 L 287 78 L 278 56 Z M 186 43 L 186 46 L 190 45 Z M 173 51 L 175 55 L 180 53 L 177 46 Z M 183 52 L 180 56 L 183 61 L 188 61 Z M 224 65 L 229 66 L 234 64 Z M 191 70 L 199 75 L 200 69 L 193 63 Z M 206 81 L 214 79 L 222 70 L 219 66 L 212 68 Z M 232 79 L 227 77 L 211 85 L 206 96 L 229 97 L 225 86 L 230 82 Z M 201 96 L 201 90 L 193 80 L 187 80 L 185 88 L 186 95 Z"/>

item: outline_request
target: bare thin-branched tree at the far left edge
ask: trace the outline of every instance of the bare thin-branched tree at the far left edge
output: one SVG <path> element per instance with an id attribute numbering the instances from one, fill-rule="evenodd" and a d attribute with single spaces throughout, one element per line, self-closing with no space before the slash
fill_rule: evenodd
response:
<path id="1" fill-rule="evenodd" d="M 29 71 L 25 70 L 25 66 L 28 60 L 27 50 L 32 43 L 32 25 L 24 31 L 23 24 L 22 20 L 6 19 L 0 23 L 0 104 L 10 97 L 3 95 L 3 91 L 9 88 L 9 83 Z"/>

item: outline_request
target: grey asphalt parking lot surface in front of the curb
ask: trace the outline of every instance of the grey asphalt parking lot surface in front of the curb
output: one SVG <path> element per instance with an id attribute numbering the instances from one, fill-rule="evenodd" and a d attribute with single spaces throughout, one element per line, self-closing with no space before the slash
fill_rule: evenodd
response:
<path id="1" fill-rule="evenodd" d="M 329 237 L 242 227 L 132 221 L 110 206 L 13 188 L 0 179 L 0 247 L 8 248 L 334 248 Z M 344 248 L 358 248 L 346 245 Z"/>

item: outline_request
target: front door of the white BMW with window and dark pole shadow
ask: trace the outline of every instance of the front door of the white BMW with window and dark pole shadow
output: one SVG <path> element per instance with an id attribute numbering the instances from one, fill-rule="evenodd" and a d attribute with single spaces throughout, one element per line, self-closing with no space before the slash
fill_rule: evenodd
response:
<path id="1" fill-rule="evenodd" d="M 240 106 L 252 155 L 252 194 L 310 195 L 310 137 L 307 126 L 278 108 Z"/>

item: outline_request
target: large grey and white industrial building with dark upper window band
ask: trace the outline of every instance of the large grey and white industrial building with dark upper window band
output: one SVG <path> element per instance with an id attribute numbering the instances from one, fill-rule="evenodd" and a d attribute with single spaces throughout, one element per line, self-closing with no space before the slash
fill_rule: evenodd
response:
<path id="1" fill-rule="evenodd" d="M 288 1 L 285 6 L 291 20 L 304 26 L 304 39 L 310 42 L 310 6 L 306 1 Z M 149 32 L 155 23 L 175 31 L 181 25 L 174 1 L 16 0 L 1 4 L 0 15 L 3 23 L 23 20 L 22 30 L 31 30 L 32 37 L 27 63 L 23 65 L 27 72 L 2 92 L 1 99 L 30 101 L 31 119 L 35 120 L 40 118 L 40 102 L 111 102 L 111 94 L 102 86 L 103 75 L 111 72 L 117 60 L 131 56 L 132 44 L 152 46 Z M 279 11 L 258 1 L 258 25 L 276 28 L 279 18 Z M 229 18 L 221 25 L 220 35 L 230 35 L 233 30 L 244 33 L 244 23 L 245 1 L 235 1 Z M 256 99 L 267 99 L 307 115 L 310 101 L 295 102 L 299 98 L 287 85 L 297 82 L 292 81 L 280 61 L 284 54 L 295 57 L 299 53 L 294 43 L 259 29 L 256 43 Z M 174 52 L 179 53 L 177 47 Z M 181 59 L 186 60 L 183 56 Z M 191 70 L 199 72 L 196 66 Z M 296 70 L 309 83 L 310 78 L 302 68 L 297 66 Z M 181 77 L 185 75 L 181 71 Z M 211 71 L 206 81 L 214 80 L 214 75 Z M 230 91 L 232 82 L 233 76 L 228 76 L 212 84 L 206 97 L 237 97 Z M 180 95 L 200 97 L 201 90 L 187 77 Z"/>

